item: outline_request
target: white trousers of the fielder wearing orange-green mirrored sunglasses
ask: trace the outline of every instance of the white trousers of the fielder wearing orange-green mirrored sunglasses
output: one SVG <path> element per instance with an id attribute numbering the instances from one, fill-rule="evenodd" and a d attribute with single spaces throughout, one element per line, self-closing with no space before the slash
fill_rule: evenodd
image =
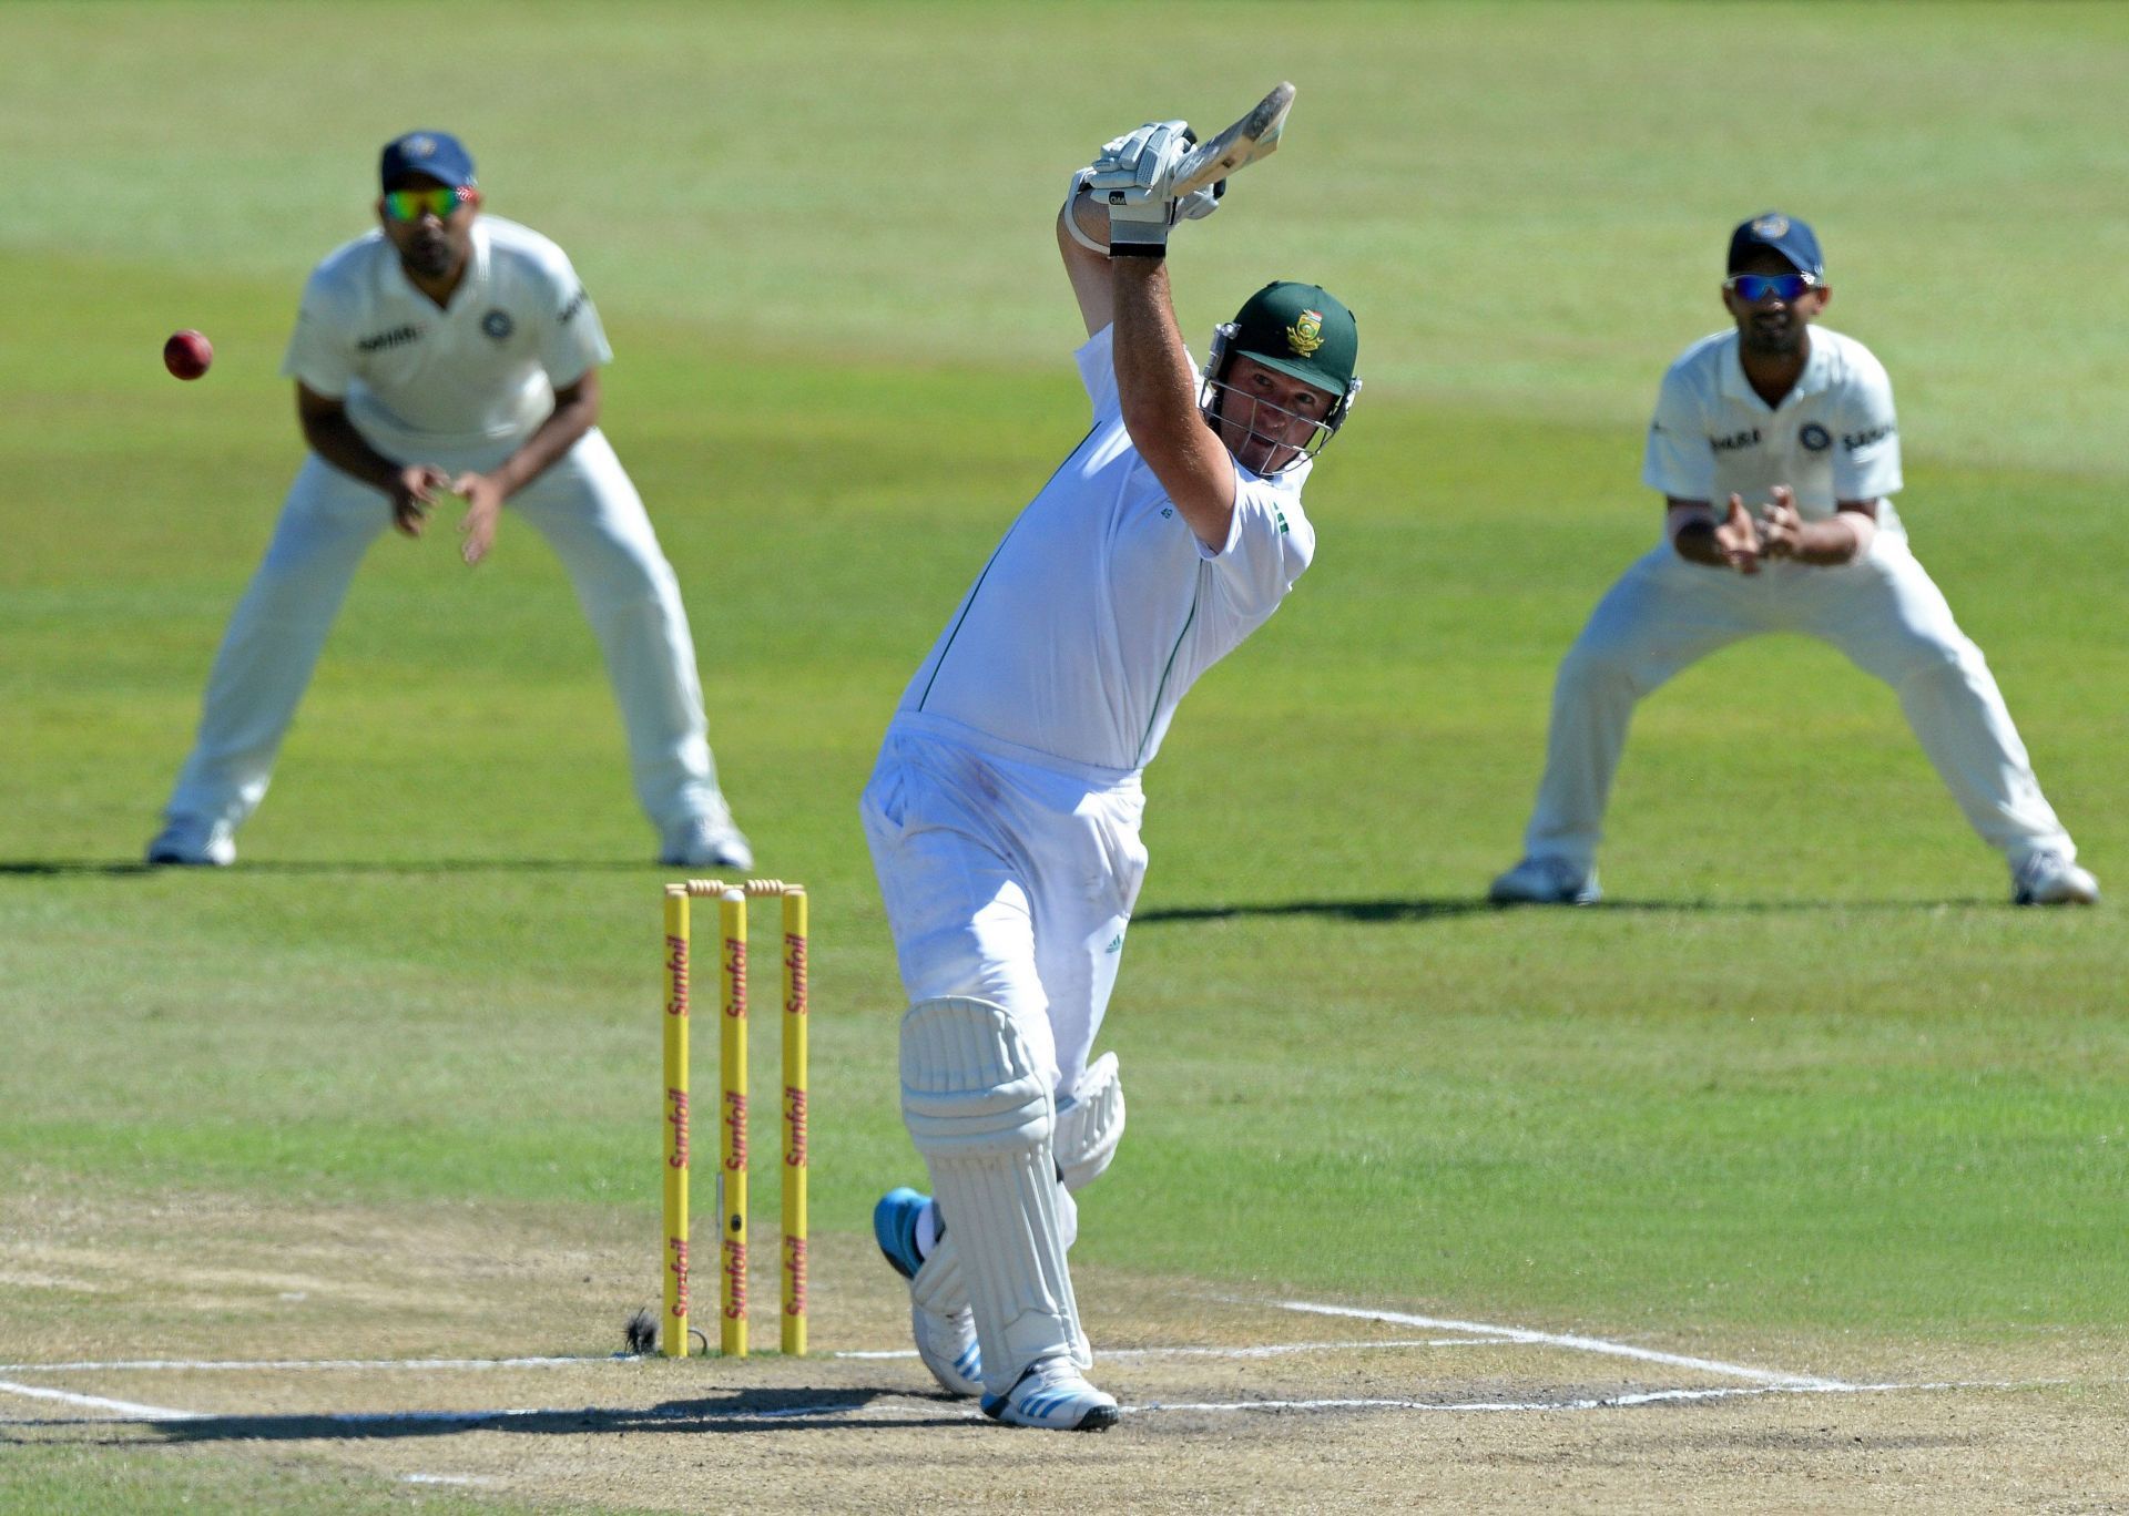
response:
<path id="1" fill-rule="evenodd" d="M 494 468 L 522 439 L 422 458 L 451 473 Z M 637 801 L 660 828 L 715 815 L 703 688 L 679 581 L 634 483 L 596 428 L 502 507 L 539 528 L 577 588 L 628 730 Z M 385 496 L 309 454 L 266 560 L 251 577 L 207 679 L 200 732 L 166 815 L 226 822 L 258 809 L 275 754 L 317 669 L 326 632 L 368 545 L 392 524 Z"/>

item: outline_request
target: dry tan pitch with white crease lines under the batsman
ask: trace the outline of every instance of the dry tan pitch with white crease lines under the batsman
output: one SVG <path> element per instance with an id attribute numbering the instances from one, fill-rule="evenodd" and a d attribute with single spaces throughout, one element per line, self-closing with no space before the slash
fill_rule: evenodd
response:
<path id="1" fill-rule="evenodd" d="M 473 1207 L 121 1214 L 23 1188 L 0 1214 L 9 1441 L 649 1510 L 2129 1510 L 2118 1341 L 1582 1335 L 1086 1267 L 1128 1414 L 1067 1437 L 939 1395 L 852 1239 L 818 1248 L 813 1356 L 632 1361 L 605 1354 L 649 1295 L 647 1222 L 558 1239 Z"/>

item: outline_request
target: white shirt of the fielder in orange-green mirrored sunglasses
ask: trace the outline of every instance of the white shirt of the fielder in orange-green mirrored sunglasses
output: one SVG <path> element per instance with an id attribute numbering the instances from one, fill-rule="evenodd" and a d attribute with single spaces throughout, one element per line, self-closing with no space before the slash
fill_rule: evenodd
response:
<path id="1" fill-rule="evenodd" d="M 413 287 L 385 234 L 334 249 L 311 273 L 281 373 L 343 400 L 396 462 L 530 432 L 613 351 L 568 256 L 481 215 L 451 302 Z"/>

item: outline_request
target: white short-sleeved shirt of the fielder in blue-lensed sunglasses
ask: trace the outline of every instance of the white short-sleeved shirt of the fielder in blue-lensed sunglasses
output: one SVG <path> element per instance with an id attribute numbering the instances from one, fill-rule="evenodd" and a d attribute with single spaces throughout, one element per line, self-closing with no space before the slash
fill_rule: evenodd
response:
<path id="1" fill-rule="evenodd" d="M 1688 347 L 1663 375 L 1641 483 L 1716 511 L 1731 494 L 1761 507 L 1786 483 L 1805 522 L 1833 515 L 1837 500 L 1880 500 L 1878 530 L 1905 537 L 1886 498 L 1901 483 L 1893 381 L 1852 336 L 1822 326 L 1810 336 L 1803 375 L 1780 407 L 1744 377 L 1735 330 Z"/>

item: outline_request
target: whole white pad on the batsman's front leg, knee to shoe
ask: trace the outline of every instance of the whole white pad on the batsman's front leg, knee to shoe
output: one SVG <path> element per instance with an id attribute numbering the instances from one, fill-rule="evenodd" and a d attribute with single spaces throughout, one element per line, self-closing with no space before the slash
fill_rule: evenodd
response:
<path id="1" fill-rule="evenodd" d="M 1077 1350 L 1079 1309 L 1064 1267 L 1050 1086 L 1003 1005 L 950 996 L 909 1007 L 903 1122 L 960 1254 L 984 1384 L 1005 1395 L 1037 1358 Z"/>

